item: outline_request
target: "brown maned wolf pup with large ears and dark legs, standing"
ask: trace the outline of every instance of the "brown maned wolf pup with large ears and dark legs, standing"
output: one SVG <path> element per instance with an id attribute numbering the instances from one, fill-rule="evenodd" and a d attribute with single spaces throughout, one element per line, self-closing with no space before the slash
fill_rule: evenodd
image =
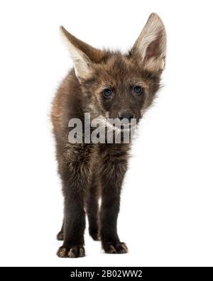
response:
<path id="1" fill-rule="evenodd" d="M 61 27 L 74 69 L 65 77 L 53 102 L 58 171 L 65 197 L 60 258 L 84 256 L 85 211 L 89 234 L 106 253 L 127 253 L 117 233 L 121 186 L 127 170 L 129 143 L 82 143 L 68 140 L 70 119 L 139 119 L 160 87 L 165 67 L 163 22 L 152 13 L 129 53 L 98 50 Z M 113 128 L 115 132 L 117 128 Z M 123 128 L 120 131 L 124 131 Z M 102 198 L 99 210 L 98 199 Z"/>

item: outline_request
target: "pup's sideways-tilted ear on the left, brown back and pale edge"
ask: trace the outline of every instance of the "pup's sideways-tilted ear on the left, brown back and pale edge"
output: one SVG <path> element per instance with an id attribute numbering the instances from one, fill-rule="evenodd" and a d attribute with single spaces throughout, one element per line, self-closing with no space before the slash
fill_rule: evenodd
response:
<path id="1" fill-rule="evenodd" d="M 92 63 L 100 62 L 104 57 L 104 52 L 77 39 L 63 26 L 60 26 L 60 33 L 74 62 L 75 75 L 78 79 L 87 79 L 92 73 Z"/>

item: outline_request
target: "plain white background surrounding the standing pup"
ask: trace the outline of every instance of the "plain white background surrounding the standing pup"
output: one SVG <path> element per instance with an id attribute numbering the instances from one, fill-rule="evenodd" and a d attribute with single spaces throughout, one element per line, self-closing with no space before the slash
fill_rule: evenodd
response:
<path id="1" fill-rule="evenodd" d="M 0 265 L 213 265 L 212 1 L 1 1 Z M 86 229 L 86 258 L 55 253 L 62 194 L 48 115 L 72 62 L 63 25 L 96 47 L 128 50 L 151 12 L 168 33 L 165 87 L 133 145 L 119 214 L 126 255 Z"/>

